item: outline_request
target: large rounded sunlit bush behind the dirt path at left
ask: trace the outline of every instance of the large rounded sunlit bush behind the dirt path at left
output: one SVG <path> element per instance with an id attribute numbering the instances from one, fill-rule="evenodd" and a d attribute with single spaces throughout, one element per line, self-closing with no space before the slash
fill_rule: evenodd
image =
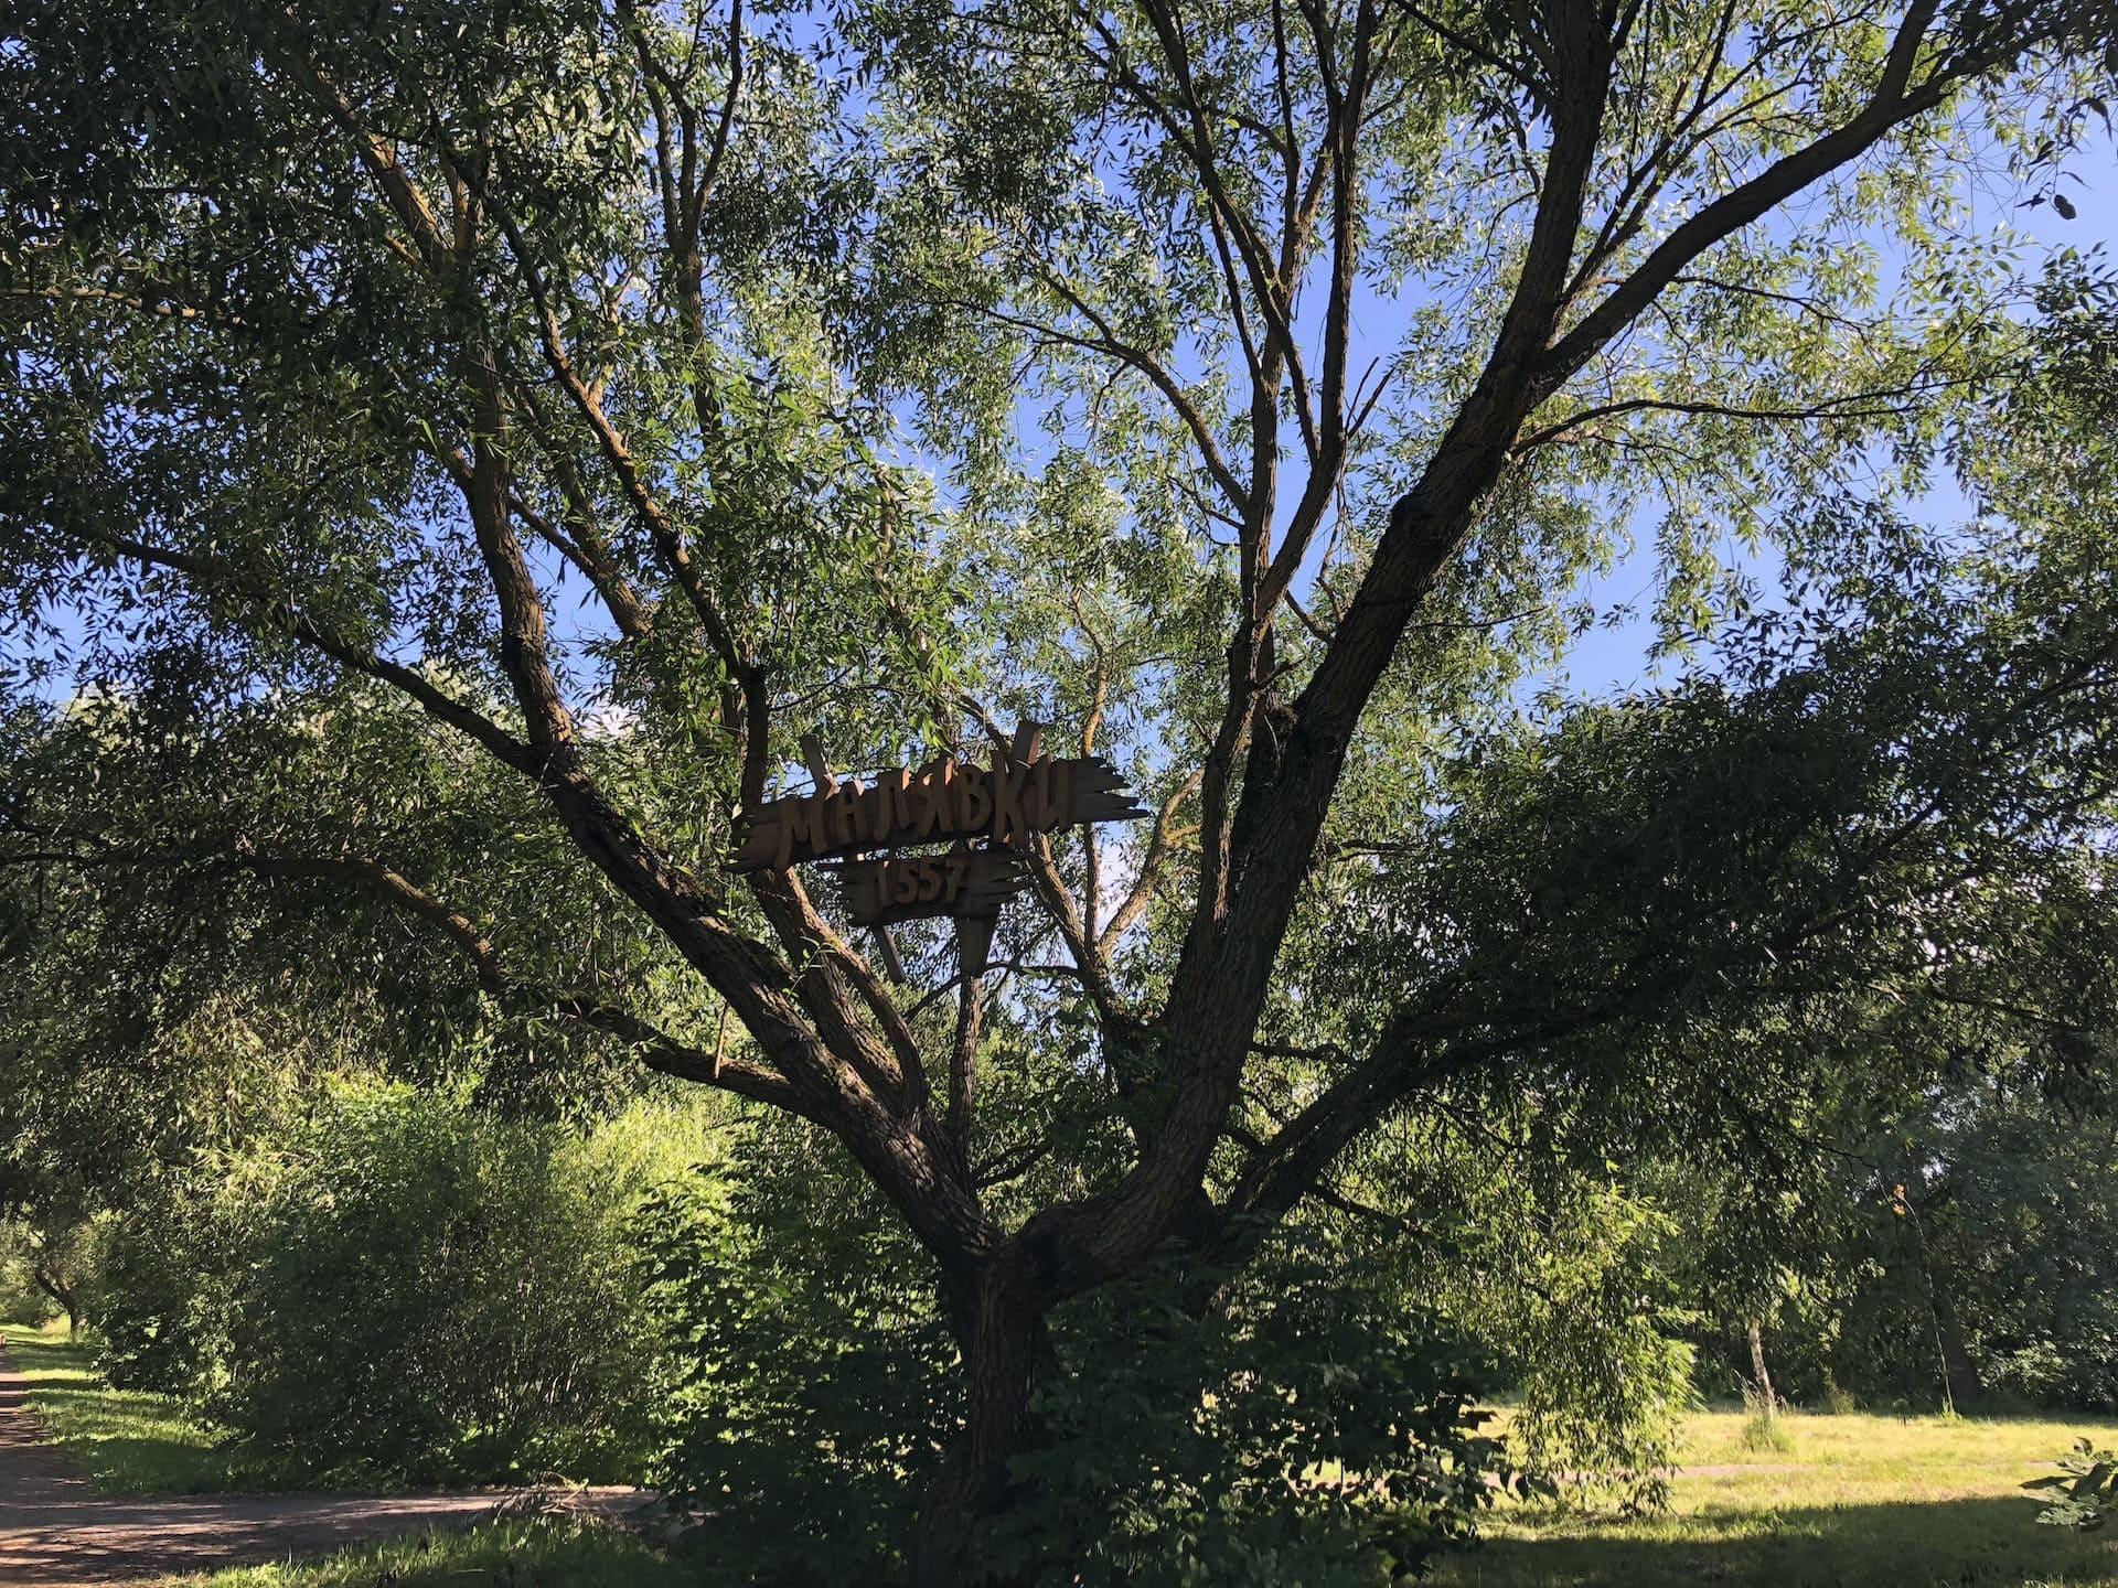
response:
<path id="1" fill-rule="evenodd" d="M 112 1243 L 112 1372 L 303 1478 L 633 1476 L 654 1357 L 627 1237 L 682 1169 L 665 1126 L 335 1088 Z"/>

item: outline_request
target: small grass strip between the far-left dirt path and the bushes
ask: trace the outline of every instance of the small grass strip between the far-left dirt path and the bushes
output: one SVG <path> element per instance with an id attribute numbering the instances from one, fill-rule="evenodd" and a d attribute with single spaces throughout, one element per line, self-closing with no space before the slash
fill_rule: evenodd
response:
<path id="1" fill-rule="evenodd" d="M 95 1351 L 64 1330 L 0 1323 L 30 1406 L 74 1467 L 106 1495 L 214 1495 L 265 1488 L 214 1448 L 167 1395 L 112 1389 Z"/>

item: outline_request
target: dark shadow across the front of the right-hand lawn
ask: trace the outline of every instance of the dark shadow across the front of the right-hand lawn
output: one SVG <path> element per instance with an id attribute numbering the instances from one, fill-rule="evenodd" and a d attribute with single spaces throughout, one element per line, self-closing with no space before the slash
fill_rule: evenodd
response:
<path id="1" fill-rule="evenodd" d="M 2118 1588 L 2118 1541 L 2038 1524 L 2031 1499 L 1726 1510 L 1552 1522 L 1457 1556 L 1461 1588 Z"/>

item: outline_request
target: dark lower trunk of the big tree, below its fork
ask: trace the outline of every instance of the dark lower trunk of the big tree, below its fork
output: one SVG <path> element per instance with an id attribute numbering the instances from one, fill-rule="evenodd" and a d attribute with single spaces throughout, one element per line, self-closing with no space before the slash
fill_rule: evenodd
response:
<path id="1" fill-rule="evenodd" d="M 964 1427 L 928 1484 L 913 1546 L 915 1588 L 983 1582 L 972 1558 L 979 1520 L 1006 1508 L 1008 1463 L 1036 1438 L 1029 1391 L 1044 1351 L 1044 1317 L 1006 1281 L 985 1283 L 959 1311 Z"/>

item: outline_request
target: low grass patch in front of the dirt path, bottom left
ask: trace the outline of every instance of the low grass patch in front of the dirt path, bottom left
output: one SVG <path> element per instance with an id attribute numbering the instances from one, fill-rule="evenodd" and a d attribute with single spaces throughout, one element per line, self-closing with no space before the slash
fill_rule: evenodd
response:
<path id="1" fill-rule="evenodd" d="M 303 1565 L 163 1577 L 152 1588 L 676 1588 L 686 1577 L 633 1535 L 580 1522 L 415 1533 Z"/>

